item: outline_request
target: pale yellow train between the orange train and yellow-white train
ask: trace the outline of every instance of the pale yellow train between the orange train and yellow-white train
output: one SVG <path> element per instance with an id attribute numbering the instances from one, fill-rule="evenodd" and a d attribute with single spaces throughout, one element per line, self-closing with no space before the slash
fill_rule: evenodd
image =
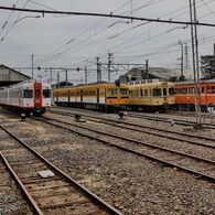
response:
<path id="1" fill-rule="evenodd" d="M 155 79 L 131 82 L 129 107 L 133 110 L 165 110 L 174 105 L 174 84 Z"/>

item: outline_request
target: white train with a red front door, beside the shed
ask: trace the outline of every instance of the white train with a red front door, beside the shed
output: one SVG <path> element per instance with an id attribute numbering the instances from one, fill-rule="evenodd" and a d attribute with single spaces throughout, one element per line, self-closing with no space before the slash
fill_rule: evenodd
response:
<path id="1" fill-rule="evenodd" d="M 42 115 L 51 107 L 51 85 L 30 79 L 0 89 L 0 106 L 20 114 Z"/>

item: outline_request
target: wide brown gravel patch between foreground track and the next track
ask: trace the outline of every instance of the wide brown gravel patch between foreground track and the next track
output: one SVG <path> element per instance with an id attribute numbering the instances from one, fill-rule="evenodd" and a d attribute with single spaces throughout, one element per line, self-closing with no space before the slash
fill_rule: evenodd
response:
<path id="1" fill-rule="evenodd" d="M 215 214 L 212 183 L 42 122 L 8 127 L 125 214 Z"/>

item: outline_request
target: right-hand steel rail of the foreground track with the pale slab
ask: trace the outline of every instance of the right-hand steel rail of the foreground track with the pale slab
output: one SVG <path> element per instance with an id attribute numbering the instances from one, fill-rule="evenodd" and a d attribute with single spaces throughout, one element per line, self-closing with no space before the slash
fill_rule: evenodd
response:
<path id="1" fill-rule="evenodd" d="M 36 155 L 39 159 L 41 159 L 44 163 L 46 163 L 52 170 L 57 172 L 60 175 L 65 178 L 72 185 L 75 185 L 82 193 L 84 193 L 86 196 L 88 196 L 96 205 L 99 205 L 103 207 L 106 212 L 114 214 L 114 215 L 122 215 L 118 209 L 112 207 L 110 204 L 106 203 L 104 200 L 101 200 L 99 196 L 90 192 L 88 189 L 76 182 L 74 179 L 72 179 L 69 175 L 67 175 L 65 172 L 61 171 L 58 168 L 56 168 L 54 164 L 52 164 L 50 161 L 47 161 L 44 157 L 42 157 L 40 153 L 37 153 L 35 150 L 33 150 L 31 147 L 29 147 L 24 141 L 19 139 L 15 135 L 7 130 L 3 126 L 0 125 L 0 128 L 4 130 L 8 135 L 13 137 L 17 141 L 19 141 L 21 144 L 23 144 L 28 150 L 30 150 L 34 155 Z"/>

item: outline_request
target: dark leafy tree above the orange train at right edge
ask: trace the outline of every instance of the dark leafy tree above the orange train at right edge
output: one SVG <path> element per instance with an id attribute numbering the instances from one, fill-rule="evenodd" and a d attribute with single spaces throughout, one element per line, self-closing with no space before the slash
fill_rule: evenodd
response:
<path id="1" fill-rule="evenodd" d="M 201 72 L 204 78 L 215 77 L 215 60 L 214 55 L 201 56 Z"/>

